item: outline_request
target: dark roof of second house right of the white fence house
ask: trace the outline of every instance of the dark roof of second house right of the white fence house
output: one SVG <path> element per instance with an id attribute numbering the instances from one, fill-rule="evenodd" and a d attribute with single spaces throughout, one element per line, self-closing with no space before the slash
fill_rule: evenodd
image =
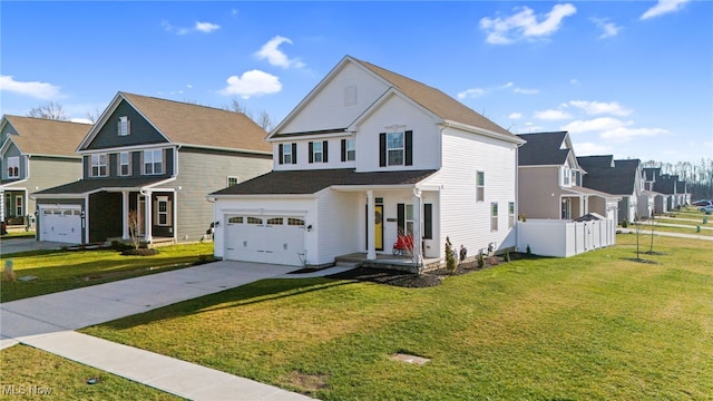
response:
<path id="1" fill-rule="evenodd" d="M 614 167 L 607 167 L 609 156 L 588 156 L 579 164 L 587 170 L 584 186 L 613 195 L 631 195 L 636 192 L 636 177 L 639 173 L 639 159 L 614 160 Z M 594 163 L 589 163 L 594 162 Z M 587 167 L 589 163 L 589 167 Z"/>

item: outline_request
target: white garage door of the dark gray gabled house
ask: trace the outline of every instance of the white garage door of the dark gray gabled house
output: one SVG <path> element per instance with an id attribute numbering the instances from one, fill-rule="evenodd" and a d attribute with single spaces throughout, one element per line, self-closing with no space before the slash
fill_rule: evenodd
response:
<path id="1" fill-rule="evenodd" d="M 40 207 L 40 241 L 81 244 L 81 208 Z"/>

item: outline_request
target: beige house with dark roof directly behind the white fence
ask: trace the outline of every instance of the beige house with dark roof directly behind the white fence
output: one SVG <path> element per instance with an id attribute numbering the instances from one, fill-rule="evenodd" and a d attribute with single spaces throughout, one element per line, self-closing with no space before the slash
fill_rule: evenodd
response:
<path id="1" fill-rule="evenodd" d="M 616 221 L 618 197 L 582 186 L 567 131 L 518 135 L 518 205 L 526 218 L 575 219 L 597 213 Z"/>

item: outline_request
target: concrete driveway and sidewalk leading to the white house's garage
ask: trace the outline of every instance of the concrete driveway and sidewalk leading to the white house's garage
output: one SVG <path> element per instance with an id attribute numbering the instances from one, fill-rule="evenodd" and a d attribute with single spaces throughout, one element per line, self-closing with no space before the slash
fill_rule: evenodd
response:
<path id="1" fill-rule="evenodd" d="M 0 349 L 17 343 L 51 352 L 192 400 L 310 400 L 272 385 L 72 332 L 271 277 L 291 266 L 215 262 L 0 304 Z"/>

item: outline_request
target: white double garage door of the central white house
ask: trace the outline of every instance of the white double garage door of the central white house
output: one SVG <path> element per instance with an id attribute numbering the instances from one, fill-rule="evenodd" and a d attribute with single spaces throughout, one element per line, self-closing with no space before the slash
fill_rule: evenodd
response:
<path id="1" fill-rule="evenodd" d="M 232 215 L 225 222 L 226 260 L 302 265 L 304 218 Z"/>

